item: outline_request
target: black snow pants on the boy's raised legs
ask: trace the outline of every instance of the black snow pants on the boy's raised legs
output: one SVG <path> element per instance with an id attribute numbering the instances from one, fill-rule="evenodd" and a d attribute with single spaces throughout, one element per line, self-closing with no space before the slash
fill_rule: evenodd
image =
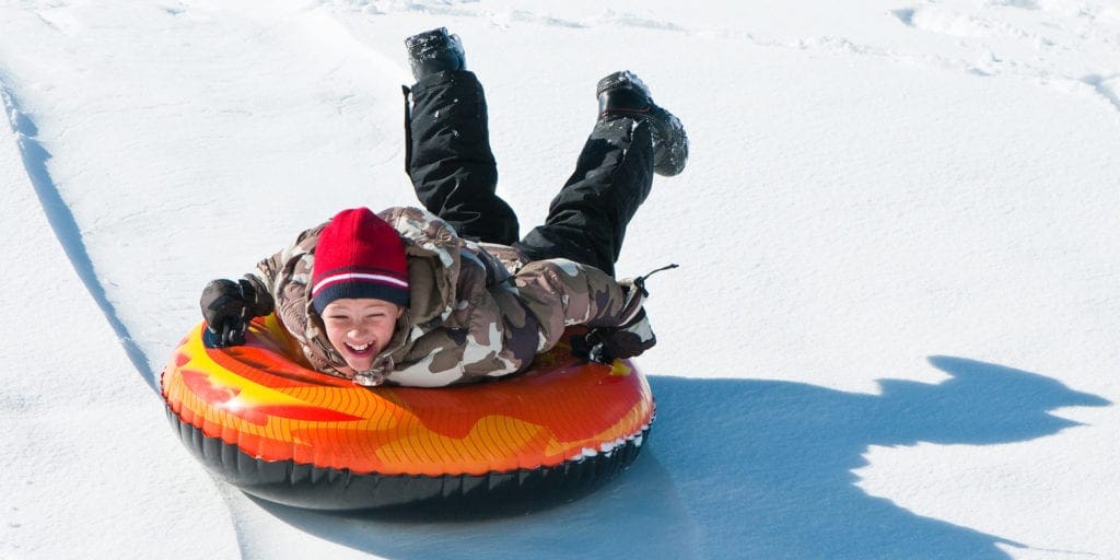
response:
<path id="1" fill-rule="evenodd" d="M 598 119 L 544 224 L 519 240 L 497 196 L 486 100 L 470 72 L 441 72 L 405 88 L 405 168 L 417 197 L 464 239 L 512 245 L 529 260 L 563 258 L 614 276 L 626 225 L 650 194 L 650 124 Z"/>

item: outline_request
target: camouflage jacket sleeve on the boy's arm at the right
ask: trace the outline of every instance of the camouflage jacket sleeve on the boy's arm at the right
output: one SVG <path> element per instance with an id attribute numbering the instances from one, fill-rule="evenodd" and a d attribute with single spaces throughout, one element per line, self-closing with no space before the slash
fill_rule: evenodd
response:
<path id="1" fill-rule="evenodd" d="M 538 352 L 554 346 L 567 327 L 614 327 L 633 314 L 624 284 L 597 268 L 566 259 L 531 262 L 513 282 L 539 324 Z"/>

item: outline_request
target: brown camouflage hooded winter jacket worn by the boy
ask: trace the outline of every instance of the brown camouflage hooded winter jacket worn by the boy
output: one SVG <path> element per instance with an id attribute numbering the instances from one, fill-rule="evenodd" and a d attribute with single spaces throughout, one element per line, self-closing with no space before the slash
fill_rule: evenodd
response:
<path id="1" fill-rule="evenodd" d="M 556 345 L 564 328 L 617 326 L 627 286 L 564 259 L 524 262 L 513 248 L 466 241 L 418 208 L 380 216 L 404 240 L 411 305 L 370 371 L 355 372 L 327 339 L 308 297 L 315 245 L 326 226 L 299 234 L 246 274 L 317 371 L 362 385 L 444 386 L 516 373 Z"/>

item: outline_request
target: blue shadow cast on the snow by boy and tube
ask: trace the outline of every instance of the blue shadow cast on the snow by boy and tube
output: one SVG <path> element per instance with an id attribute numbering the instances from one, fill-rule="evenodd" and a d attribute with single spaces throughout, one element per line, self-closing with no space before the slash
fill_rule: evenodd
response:
<path id="1" fill-rule="evenodd" d="M 659 419 L 634 467 L 597 493 L 519 517 L 423 521 L 259 502 L 324 539 L 392 558 L 1008 558 L 998 535 L 922 517 L 855 486 L 868 446 L 1027 441 L 1108 401 L 956 357 L 951 379 L 880 395 L 762 380 L 652 377 Z"/>

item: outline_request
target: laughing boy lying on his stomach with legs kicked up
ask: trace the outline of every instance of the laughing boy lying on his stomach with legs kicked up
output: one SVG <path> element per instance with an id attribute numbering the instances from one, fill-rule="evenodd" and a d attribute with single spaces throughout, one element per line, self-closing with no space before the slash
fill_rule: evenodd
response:
<path id="1" fill-rule="evenodd" d="M 236 282 L 215 280 L 202 310 L 218 345 L 276 310 L 320 372 L 366 386 L 444 386 L 523 371 L 571 325 L 588 357 L 641 354 L 656 339 L 643 278 L 616 281 L 626 225 L 653 174 L 688 159 L 681 122 L 629 72 L 599 81 L 599 116 L 544 224 L 517 239 L 496 195 L 486 102 L 459 38 L 405 39 L 405 165 L 426 211 L 338 213 Z M 408 102 L 411 97 L 411 106 Z"/>

